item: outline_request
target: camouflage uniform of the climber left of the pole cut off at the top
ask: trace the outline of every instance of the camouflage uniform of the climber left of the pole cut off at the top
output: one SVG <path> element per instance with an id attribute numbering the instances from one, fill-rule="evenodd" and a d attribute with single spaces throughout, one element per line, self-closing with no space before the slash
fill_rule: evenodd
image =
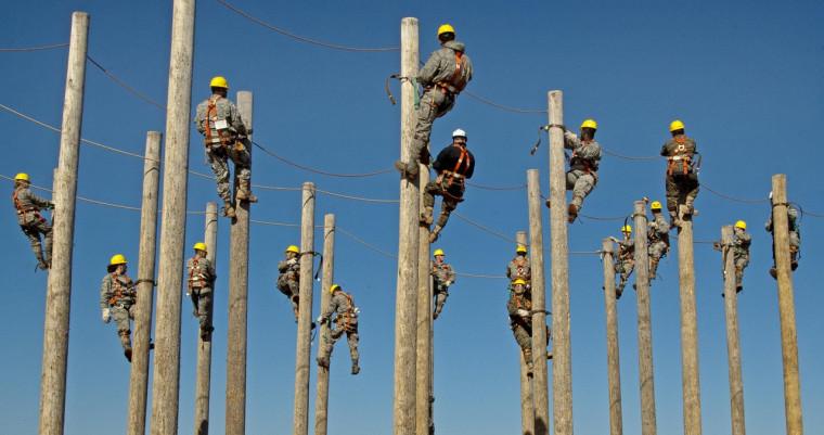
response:
<path id="1" fill-rule="evenodd" d="M 110 269 L 111 270 L 111 269 Z M 103 277 L 100 285 L 100 309 L 105 312 L 108 310 L 112 318 L 117 323 L 117 334 L 120 336 L 126 358 L 131 361 L 131 328 L 129 319 L 134 319 L 134 307 L 138 293 L 134 283 L 126 273 L 117 271 L 107 273 Z M 105 316 L 105 315 L 104 315 Z M 108 323 L 108 320 L 106 320 Z"/>

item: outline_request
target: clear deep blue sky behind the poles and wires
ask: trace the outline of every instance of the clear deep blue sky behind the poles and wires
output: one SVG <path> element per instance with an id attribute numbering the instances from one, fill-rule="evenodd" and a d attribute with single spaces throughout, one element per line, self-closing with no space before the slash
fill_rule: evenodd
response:
<path id="1" fill-rule="evenodd" d="M 436 49 L 435 30 L 452 23 L 467 44 L 476 74 L 468 87 L 497 102 L 529 108 L 546 104 L 546 91 L 565 92 L 565 118 L 575 126 L 594 117 L 597 139 L 611 151 L 655 155 L 678 117 L 704 155 L 701 181 L 744 199 L 763 199 L 770 176 L 788 174 L 789 197 L 824 213 L 822 153 L 815 127 L 824 116 L 824 5 L 815 1 L 767 2 L 255 2 L 236 5 L 300 35 L 359 47 L 399 43 L 403 16 L 421 24 L 422 59 Z M 0 47 L 68 40 L 70 12 L 91 14 L 89 54 L 115 75 L 165 104 L 170 2 L 8 2 Z M 343 172 L 389 167 L 398 154 L 399 107 L 389 105 L 384 78 L 398 71 L 399 55 L 348 53 L 298 43 L 252 24 L 214 0 L 198 2 L 193 106 L 208 93 L 214 75 L 255 95 L 256 140 L 302 164 Z M 0 53 L 5 91 L 0 103 L 60 125 L 65 50 Z M 397 87 L 396 87 L 397 89 Z M 396 92 L 397 93 L 397 92 Z M 439 119 L 433 148 L 449 132 L 467 130 L 478 166 L 474 181 L 516 185 L 539 168 L 546 191 L 546 145 L 528 151 L 543 115 L 501 112 L 462 95 Z M 142 153 L 146 130 L 163 130 L 165 114 L 136 99 L 89 65 L 82 136 Z M 51 185 L 59 138 L 0 113 L 5 158 L 0 174 L 29 172 Z M 190 167 L 208 171 L 192 130 Z M 81 195 L 139 205 L 139 159 L 82 145 Z M 606 156 L 601 181 L 583 213 L 621 216 L 641 196 L 661 199 L 662 162 Z M 256 152 L 254 181 L 321 189 L 370 197 L 398 194 L 395 174 L 365 179 L 317 176 Z M 4 182 L 4 195 L 11 183 Z M 253 218 L 299 221 L 299 194 L 258 191 Z M 214 183 L 190 178 L 189 208 L 216 201 Z M 0 214 L 4 286 L 0 305 L 0 421 L 9 434 L 35 433 L 38 417 L 46 274 L 21 234 L 11 204 Z M 704 190 L 697 201 L 695 236 L 716 240 L 720 227 L 745 219 L 754 235 L 752 261 L 739 303 L 744 394 L 748 433 L 784 431 L 777 298 L 767 270 L 770 238 L 762 230 L 768 205 L 738 204 Z M 321 195 L 317 221 L 334 213 L 338 225 L 390 253 L 397 252 L 397 205 L 366 204 Z M 527 228 L 526 192 L 469 188 L 459 213 L 514 236 Z M 546 214 L 544 214 L 544 219 Z M 136 266 L 139 214 L 78 203 L 73 273 L 66 434 L 119 433 L 126 425 L 129 366 L 113 324 L 100 321 L 98 291 L 105 264 L 124 253 Z M 222 433 L 229 226 L 220 220 L 211 391 L 213 433 Z M 617 235 L 620 221 L 583 220 L 571 227 L 570 248 L 594 251 Z M 794 276 L 798 345 L 807 433 L 824 430 L 824 317 L 817 269 L 824 220 L 802 220 L 801 266 Z M 190 216 L 188 247 L 202 239 L 203 218 Z M 248 434 L 286 434 L 292 428 L 295 323 L 274 289 L 275 261 L 298 242 L 287 227 L 254 226 L 250 245 L 248 323 Z M 320 239 L 318 239 L 320 240 Z M 544 240 L 549 240 L 545 234 Z M 317 247 L 320 248 L 320 242 Z M 453 217 L 437 244 L 459 271 L 502 274 L 513 244 Z M 549 261 L 549 256 L 546 257 Z M 704 433 L 730 432 L 720 255 L 695 246 Z M 658 431 L 682 431 L 677 255 L 660 268 L 652 289 Z M 572 386 L 578 434 L 608 431 L 606 340 L 601 263 L 570 258 Z M 132 268 L 132 274 L 136 273 Z M 549 265 L 548 265 L 549 274 Z M 338 233 L 336 281 L 362 309 L 362 372 L 348 374 L 339 343 L 332 368 L 330 433 L 388 434 L 391 430 L 395 277 L 394 260 Z M 519 430 L 517 347 L 505 316 L 503 280 L 459 279 L 436 324 L 435 418 L 441 434 L 516 433 Z M 316 286 L 316 304 L 318 300 Z M 196 320 L 183 300 L 180 433 L 193 425 Z M 316 305 L 317 306 L 317 305 Z M 317 308 L 316 308 L 317 316 Z M 626 433 L 640 433 L 634 294 L 619 304 L 621 381 Z M 816 338 L 817 337 L 817 338 Z M 313 346 L 313 351 L 314 351 Z M 312 356 L 312 358 L 314 355 Z M 313 366 L 314 367 L 314 366 Z M 314 370 L 312 371 L 312 385 Z M 310 397 L 313 400 L 314 387 Z"/>

